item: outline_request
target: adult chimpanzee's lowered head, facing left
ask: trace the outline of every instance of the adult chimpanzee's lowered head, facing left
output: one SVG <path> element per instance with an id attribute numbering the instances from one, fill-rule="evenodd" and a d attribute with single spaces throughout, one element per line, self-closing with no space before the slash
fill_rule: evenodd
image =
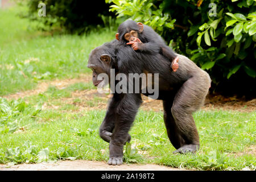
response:
<path id="1" fill-rule="evenodd" d="M 93 49 L 90 53 L 87 67 L 93 71 L 92 80 L 94 86 L 98 86 L 103 81 L 97 79 L 100 73 L 110 75 L 110 68 L 112 68 L 113 61 L 113 57 L 110 55 L 111 53 L 109 52 L 109 48 L 106 47 L 106 44 Z"/>

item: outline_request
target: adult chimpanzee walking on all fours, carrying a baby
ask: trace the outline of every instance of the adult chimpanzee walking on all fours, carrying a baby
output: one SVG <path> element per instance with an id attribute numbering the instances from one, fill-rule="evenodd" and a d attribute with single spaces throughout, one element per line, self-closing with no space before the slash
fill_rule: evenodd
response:
<path id="1" fill-rule="evenodd" d="M 203 104 L 208 93 L 210 77 L 187 57 L 179 56 L 180 67 L 170 72 L 170 61 L 155 52 L 136 52 L 117 40 L 93 49 L 88 68 L 93 70 L 93 84 L 97 76 L 110 69 L 115 73 L 159 73 L 159 100 L 163 100 L 164 123 L 168 138 L 177 149 L 174 153 L 196 152 L 199 149 L 192 113 Z M 110 82 L 110 80 L 109 80 Z M 112 87 L 110 82 L 110 87 Z M 116 82 L 114 83 L 116 84 Z M 144 93 L 148 96 L 148 93 Z M 142 103 L 140 93 L 114 93 L 100 127 L 100 137 L 109 142 L 108 164 L 122 164 L 123 145 L 130 141 L 128 134 Z"/>

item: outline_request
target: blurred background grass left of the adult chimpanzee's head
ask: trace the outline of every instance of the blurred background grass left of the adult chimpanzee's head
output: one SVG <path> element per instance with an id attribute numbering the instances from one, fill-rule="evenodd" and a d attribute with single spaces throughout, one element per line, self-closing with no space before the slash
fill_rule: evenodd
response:
<path id="1" fill-rule="evenodd" d="M 114 32 L 107 29 L 82 36 L 47 36 L 35 31 L 35 23 L 20 19 L 18 11 L 0 10 L 0 96 L 32 89 L 39 81 L 90 72 L 90 51 L 114 39 Z"/>

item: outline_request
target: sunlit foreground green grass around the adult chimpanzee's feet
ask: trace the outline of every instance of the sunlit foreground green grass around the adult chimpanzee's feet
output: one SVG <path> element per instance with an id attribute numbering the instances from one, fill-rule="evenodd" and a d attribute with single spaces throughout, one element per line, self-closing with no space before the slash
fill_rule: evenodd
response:
<path id="1" fill-rule="evenodd" d="M 57 92 L 57 91 L 56 91 Z M 60 159 L 108 160 L 108 143 L 98 135 L 104 110 L 72 113 L 72 105 L 40 110 L 24 101 L 0 102 L 0 163 L 38 163 Z M 63 113 L 64 110 L 69 110 Z M 126 163 L 156 163 L 204 170 L 255 169 L 256 112 L 197 111 L 201 148 L 174 155 L 162 113 L 139 111 L 125 150 Z M 240 154 L 240 155 L 238 155 Z"/>

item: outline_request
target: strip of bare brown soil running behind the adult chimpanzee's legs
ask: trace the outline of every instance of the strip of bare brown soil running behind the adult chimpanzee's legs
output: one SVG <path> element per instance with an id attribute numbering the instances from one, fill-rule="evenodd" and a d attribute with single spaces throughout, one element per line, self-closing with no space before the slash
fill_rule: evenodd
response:
<path id="1" fill-rule="evenodd" d="M 61 102 L 64 102 L 64 104 L 76 105 L 78 109 L 73 111 L 96 110 L 106 109 L 108 100 L 111 97 L 111 94 L 100 94 L 97 92 L 97 90 L 94 89 L 77 90 L 72 93 L 71 98 L 61 98 Z M 79 102 L 76 102 L 77 98 L 79 98 Z M 142 110 L 163 111 L 162 101 L 152 100 L 143 95 L 142 100 Z M 46 109 L 50 108 L 46 107 Z M 51 106 L 51 109 L 54 109 L 54 106 Z M 256 111 L 256 99 L 251 101 L 244 101 L 233 97 L 227 98 L 224 96 L 207 96 L 205 99 L 205 105 L 201 107 L 201 109 L 251 112 Z"/>

